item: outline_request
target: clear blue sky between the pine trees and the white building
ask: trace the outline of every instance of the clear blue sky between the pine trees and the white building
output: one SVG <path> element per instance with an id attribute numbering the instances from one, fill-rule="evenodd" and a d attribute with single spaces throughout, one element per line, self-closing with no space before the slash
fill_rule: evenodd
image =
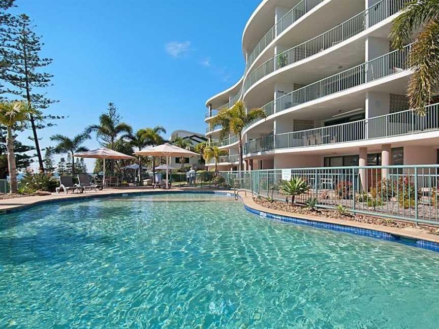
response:
<path id="1" fill-rule="evenodd" d="M 48 113 L 66 115 L 39 131 L 75 136 L 113 102 L 134 129 L 205 130 L 207 98 L 242 75 L 241 37 L 260 0 L 16 0 L 53 58 Z M 19 136 L 24 140 L 30 131 Z M 29 143 L 32 143 L 29 141 Z M 93 136 L 86 142 L 97 147 Z M 92 168 L 88 168 L 89 171 Z"/>

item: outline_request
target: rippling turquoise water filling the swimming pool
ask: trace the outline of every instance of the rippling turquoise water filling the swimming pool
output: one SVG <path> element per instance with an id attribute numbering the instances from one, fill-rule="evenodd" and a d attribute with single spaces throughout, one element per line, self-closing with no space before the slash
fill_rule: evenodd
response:
<path id="1" fill-rule="evenodd" d="M 1 328 L 437 328 L 438 274 L 439 253 L 260 218 L 222 195 L 0 216 Z"/>

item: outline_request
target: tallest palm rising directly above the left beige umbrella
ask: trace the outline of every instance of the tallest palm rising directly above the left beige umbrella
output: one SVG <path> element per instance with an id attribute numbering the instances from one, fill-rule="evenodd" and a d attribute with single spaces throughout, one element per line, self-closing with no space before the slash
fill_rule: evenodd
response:
<path id="1" fill-rule="evenodd" d="M 121 134 L 132 134 L 133 128 L 125 122 L 120 122 L 120 116 L 116 113 L 116 107 L 113 103 L 108 105 L 108 113 L 103 113 L 99 117 L 99 124 L 89 125 L 85 133 L 96 132 L 96 137 L 100 140 L 101 145 L 114 150 L 114 143 Z M 110 162 L 110 172 L 114 172 L 114 160 Z"/>

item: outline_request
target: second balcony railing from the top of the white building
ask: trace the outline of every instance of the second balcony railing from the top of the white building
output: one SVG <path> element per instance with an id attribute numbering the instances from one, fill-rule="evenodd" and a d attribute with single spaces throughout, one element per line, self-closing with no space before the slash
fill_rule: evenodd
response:
<path id="1" fill-rule="evenodd" d="M 410 1 L 382 0 L 320 36 L 277 54 L 248 75 L 244 82 L 244 92 L 268 74 L 331 48 L 359 34 L 366 28 L 383 21 L 397 13 Z"/>

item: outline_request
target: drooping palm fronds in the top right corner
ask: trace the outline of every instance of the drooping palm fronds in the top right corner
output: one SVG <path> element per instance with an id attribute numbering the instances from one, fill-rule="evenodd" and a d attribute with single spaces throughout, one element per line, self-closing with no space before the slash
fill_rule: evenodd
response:
<path id="1" fill-rule="evenodd" d="M 407 97 L 409 105 L 419 115 L 431 102 L 431 94 L 439 87 L 439 1 L 416 0 L 408 3 L 393 22 L 392 46 L 401 49 L 415 40 L 409 56 L 413 70 Z"/>

